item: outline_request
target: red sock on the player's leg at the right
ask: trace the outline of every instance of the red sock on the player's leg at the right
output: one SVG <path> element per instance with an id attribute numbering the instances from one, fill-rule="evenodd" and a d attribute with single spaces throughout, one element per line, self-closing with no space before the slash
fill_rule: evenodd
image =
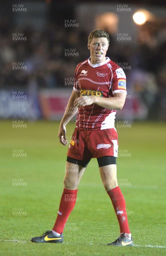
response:
<path id="1" fill-rule="evenodd" d="M 113 203 L 113 207 L 116 213 L 116 217 L 119 222 L 120 233 L 130 233 L 129 231 L 129 224 L 127 220 L 127 212 L 126 212 L 126 203 L 124 200 L 124 196 L 121 192 L 119 186 L 114 189 L 111 189 L 107 192 L 111 201 Z"/>

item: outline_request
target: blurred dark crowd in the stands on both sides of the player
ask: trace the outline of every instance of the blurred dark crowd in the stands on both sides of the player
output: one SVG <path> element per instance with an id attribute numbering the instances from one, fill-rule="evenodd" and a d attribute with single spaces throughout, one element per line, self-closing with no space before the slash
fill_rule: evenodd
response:
<path id="1" fill-rule="evenodd" d="M 36 89 L 65 87 L 76 65 L 90 56 L 87 38 L 78 28 L 48 23 L 37 31 L 0 20 L 0 88 L 34 83 Z M 146 105 L 149 118 L 166 119 L 166 26 L 146 23 L 139 27 L 134 45 L 110 35 L 107 56 L 122 66 L 128 90 Z"/>

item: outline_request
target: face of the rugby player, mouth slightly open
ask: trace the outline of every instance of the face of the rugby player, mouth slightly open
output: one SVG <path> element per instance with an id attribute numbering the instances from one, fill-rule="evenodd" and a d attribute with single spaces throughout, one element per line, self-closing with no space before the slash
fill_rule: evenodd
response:
<path id="1" fill-rule="evenodd" d="M 106 60 L 106 52 L 109 47 L 107 38 L 93 38 L 93 40 L 87 44 L 90 50 L 90 62 L 92 64 L 98 64 Z"/>

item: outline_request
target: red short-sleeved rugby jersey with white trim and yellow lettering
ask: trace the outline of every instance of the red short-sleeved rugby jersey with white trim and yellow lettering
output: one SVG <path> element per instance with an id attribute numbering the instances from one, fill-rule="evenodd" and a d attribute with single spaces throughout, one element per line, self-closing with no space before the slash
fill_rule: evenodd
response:
<path id="1" fill-rule="evenodd" d="M 80 96 L 114 97 L 115 93 L 127 93 L 126 76 L 108 57 L 99 64 L 91 64 L 89 58 L 77 65 L 73 90 Z M 78 110 L 76 127 L 84 130 L 114 128 L 115 114 L 115 110 L 96 104 L 85 106 Z"/>

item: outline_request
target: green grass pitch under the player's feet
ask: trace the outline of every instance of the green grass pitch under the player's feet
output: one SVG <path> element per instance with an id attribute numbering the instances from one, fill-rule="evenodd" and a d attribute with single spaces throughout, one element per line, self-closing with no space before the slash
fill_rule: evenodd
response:
<path id="1" fill-rule="evenodd" d="M 135 122 L 118 128 L 118 180 L 124 193 L 134 247 L 110 247 L 118 221 L 96 159 L 82 177 L 63 244 L 35 244 L 31 237 L 53 227 L 63 190 L 68 147 L 59 143 L 59 122 L 0 121 L 0 255 L 166 255 L 166 124 Z M 67 139 L 75 127 L 67 125 Z M 17 152 L 21 157 L 16 157 Z M 22 185 L 22 186 L 21 186 Z"/>

